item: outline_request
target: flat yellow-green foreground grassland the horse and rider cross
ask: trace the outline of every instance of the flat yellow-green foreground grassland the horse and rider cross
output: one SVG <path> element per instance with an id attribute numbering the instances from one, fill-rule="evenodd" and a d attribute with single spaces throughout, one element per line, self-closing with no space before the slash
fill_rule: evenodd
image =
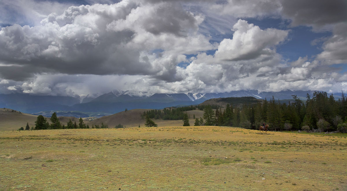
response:
<path id="1" fill-rule="evenodd" d="M 0 148 L 0 190 L 347 190 L 346 134 L 2 131 Z"/>

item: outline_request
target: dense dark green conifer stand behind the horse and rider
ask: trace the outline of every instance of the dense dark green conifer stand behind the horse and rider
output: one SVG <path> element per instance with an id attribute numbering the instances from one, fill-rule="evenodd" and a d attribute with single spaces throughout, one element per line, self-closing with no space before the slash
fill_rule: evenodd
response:
<path id="1" fill-rule="evenodd" d="M 204 125 L 235 126 L 258 129 L 263 123 L 269 124 L 270 130 L 305 130 L 340 131 L 347 133 L 347 99 L 342 92 L 342 99 L 335 100 L 327 92 L 307 94 L 306 102 L 293 95 L 295 101 L 281 103 L 279 100 L 264 100 L 251 104 L 232 105 L 215 112 L 211 107 L 204 109 Z M 202 125 L 201 119 L 195 119 L 195 125 Z"/>

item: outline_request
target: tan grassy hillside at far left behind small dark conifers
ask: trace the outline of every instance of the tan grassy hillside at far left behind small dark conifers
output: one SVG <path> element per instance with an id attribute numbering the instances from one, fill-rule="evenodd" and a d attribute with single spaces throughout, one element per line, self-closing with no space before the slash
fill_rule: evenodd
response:
<path id="1" fill-rule="evenodd" d="M 36 115 L 31 115 L 27 113 L 22 113 L 19 111 L 15 111 L 12 109 L 0 109 L 0 131 L 11 131 L 11 130 L 18 130 L 20 127 L 26 126 L 26 123 L 28 122 L 29 126 L 35 126 L 35 121 L 37 119 Z M 58 117 L 61 124 L 66 125 L 69 119 L 71 121 L 76 121 L 78 124 L 78 118 L 75 117 Z M 50 118 L 47 118 L 48 122 L 50 121 Z M 84 121 L 85 123 L 88 121 Z"/>

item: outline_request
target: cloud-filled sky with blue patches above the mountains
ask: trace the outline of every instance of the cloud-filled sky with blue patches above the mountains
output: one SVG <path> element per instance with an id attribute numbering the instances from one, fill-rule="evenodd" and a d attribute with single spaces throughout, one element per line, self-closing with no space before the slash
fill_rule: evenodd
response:
<path id="1" fill-rule="evenodd" d="M 0 0 L 0 93 L 347 91 L 345 0 Z"/>

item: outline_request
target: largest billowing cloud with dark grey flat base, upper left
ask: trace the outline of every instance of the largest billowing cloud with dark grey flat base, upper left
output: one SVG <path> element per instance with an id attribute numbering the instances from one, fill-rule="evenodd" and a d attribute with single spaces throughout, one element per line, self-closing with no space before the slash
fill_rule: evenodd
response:
<path id="1" fill-rule="evenodd" d="M 11 74 L 12 66 L 0 66 L 0 75 L 13 80 L 43 72 L 174 77 L 183 54 L 214 48 L 197 34 L 202 20 L 179 3 L 71 6 L 41 25 L 2 28 L 0 59 L 18 66 Z M 153 55 L 156 49 L 160 55 Z"/>

